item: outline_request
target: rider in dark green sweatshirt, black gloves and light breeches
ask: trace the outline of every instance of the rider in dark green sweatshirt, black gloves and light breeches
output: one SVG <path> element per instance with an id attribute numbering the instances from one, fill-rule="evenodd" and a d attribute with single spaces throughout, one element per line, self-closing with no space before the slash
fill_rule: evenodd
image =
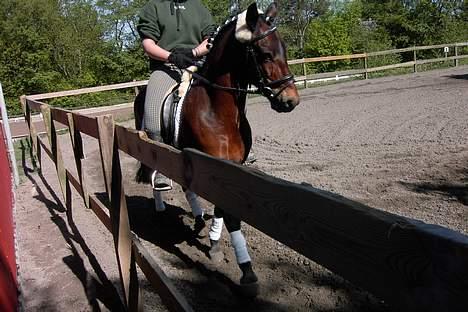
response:
<path id="1" fill-rule="evenodd" d="M 208 53 L 208 37 L 215 30 L 213 18 L 201 0 L 150 0 L 141 10 L 137 25 L 143 50 L 150 58 L 151 76 L 146 89 L 143 128 L 162 141 L 160 105 L 182 70 Z M 152 176 L 157 191 L 170 190 L 170 180 Z"/>

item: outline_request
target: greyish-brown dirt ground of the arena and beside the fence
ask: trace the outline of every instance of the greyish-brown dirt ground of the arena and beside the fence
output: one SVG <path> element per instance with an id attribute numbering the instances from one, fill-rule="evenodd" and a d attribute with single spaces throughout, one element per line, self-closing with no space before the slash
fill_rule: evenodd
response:
<path id="1" fill-rule="evenodd" d="M 468 234 L 468 67 L 311 88 L 301 91 L 301 100 L 289 114 L 274 112 L 262 98 L 249 101 L 253 167 Z M 97 142 L 84 141 L 89 190 L 103 196 Z M 74 168 L 68 135 L 61 143 Z M 15 216 L 24 311 L 121 310 L 112 237 L 77 194 L 66 212 L 51 161 L 43 157 L 42 174 L 33 172 L 22 152 Z M 180 188 L 167 194 L 168 210 L 156 215 L 149 187 L 133 182 L 136 162 L 122 156 L 132 229 L 194 310 L 390 310 L 247 225 L 261 293 L 243 299 L 227 233 L 226 259 L 214 267 L 208 238 L 192 233 Z M 143 275 L 140 281 L 145 310 L 165 311 Z"/>

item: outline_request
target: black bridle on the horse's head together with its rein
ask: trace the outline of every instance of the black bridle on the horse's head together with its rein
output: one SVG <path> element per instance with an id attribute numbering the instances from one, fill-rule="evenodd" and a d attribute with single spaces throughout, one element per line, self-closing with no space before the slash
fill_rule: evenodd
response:
<path id="1" fill-rule="evenodd" d="M 252 63 L 254 64 L 254 67 L 255 67 L 255 73 L 258 78 L 258 82 L 253 83 L 257 87 L 257 90 L 221 86 L 210 81 L 209 79 L 205 78 L 204 76 L 196 72 L 193 72 L 189 69 L 185 69 L 185 70 L 188 71 L 194 78 L 198 79 L 199 81 L 203 82 L 204 84 L 214 89 L 231 91 L 231 92 L 239 92 L 239 93 L 248 93 L 248 94 L 261 94 L 265 96 L 266 98 L 273 100 L 277 98 L 281 94 L 281 92 L 283 92 L 283 90 L 288 87 L 289 84 L 294 82 L 294 75 L 288 74 L 288 75 L 281 77 L 280 79 L 270 81 L 267 78 L 265 71 L 263 70 L 263 67 L 258 63 L 258 60 L 257 60 L 258 53 L 255 51 L 255 43 L 270 36 L 276 31 L 277 31 L 277 27 L 272 26 L 267 31 L 259 34 L 258 36 L 256 36 L 255 38 L 253 38 L 252 40 L 246 43 L 247 62 L 249 62 L 249 59 L 252 60 Z M 279 90 L 275 92 L 274 91 L 275 88 L 279 88 Z"/>

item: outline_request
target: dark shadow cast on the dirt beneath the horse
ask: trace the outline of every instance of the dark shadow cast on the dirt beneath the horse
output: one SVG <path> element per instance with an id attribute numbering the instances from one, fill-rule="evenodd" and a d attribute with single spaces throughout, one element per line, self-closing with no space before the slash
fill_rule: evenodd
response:
<path id="1" fill-rule="evenodd" d="M 103 200 L 105 196 L 105 193 L 97 194 L 97 197 Z M 280 304 L 276 304 L 274 309 L 267 309 L 266 307 L 271 307 L 273 303 L 246 298 L 240 286 L 217 271 L 215 266 L 208 267 L 182 251 L 178 245 L 185 243 L 209 258 L 209 246 L 199 240 L 200 237 L 192 230 L 191 224 L 187 225 L 187 221 L 184 222 L 189 219 L 191 223 L 193 219 L 183 208 L 166 203 L 164 212 L 156 212 L 153 199 L 143 196 L 127 196 L 127 207 L 130 227 L 139 238 L 179 258 L 183 262 L 182 269 L 195 269 L 205 277 L 197 283 L 181 281 L 190 288 L 191 293 L 197 294 L 191 298 L 196 310 L 219 311 L 222 307 L 223 311 L 287 311 L 286 308 L 280 308 Z M 171 265 L 181 267 L 181 263 L 177 262 Z M 233 265 L 237 269 L 237 264 Z M 207 289 L 210 291 L 207 292 Z"/>

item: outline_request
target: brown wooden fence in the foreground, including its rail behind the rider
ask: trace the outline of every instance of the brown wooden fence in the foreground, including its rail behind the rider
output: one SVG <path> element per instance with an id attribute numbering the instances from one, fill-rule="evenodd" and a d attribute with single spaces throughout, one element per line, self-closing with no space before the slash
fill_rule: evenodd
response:
<path id="1" fill-rule="evenodd" d="M 145 82 L 66 92 L 75 95 L 139 84 Z M 123 302 L 128 310 L 141 309 L 136 265 L 169 310 L 191 311 L 191 307 L 131 231 L 119 150 L 397 309 L 462 311 L 468 306 L 467 236 L 193 149 L 174 149 L 149 140 L 143 132 L 116 125 L 109 115 L 87 117 L 39 101 L 56 96 L 64 93 L 21 97 L 34 155 L 39 164 L 42 151 L 54 161 L 66 207 L 72 204 L 73 186 L 86 207 L 113 234 Z M 35 131 L 32 112 L 43 114 L 48 143 Z M 77 177 L 65 167 L 55 122 L 70 130 Z M 89 193 L 83 181 L 82 133 L 99 142 L 110 207 Z"/>

